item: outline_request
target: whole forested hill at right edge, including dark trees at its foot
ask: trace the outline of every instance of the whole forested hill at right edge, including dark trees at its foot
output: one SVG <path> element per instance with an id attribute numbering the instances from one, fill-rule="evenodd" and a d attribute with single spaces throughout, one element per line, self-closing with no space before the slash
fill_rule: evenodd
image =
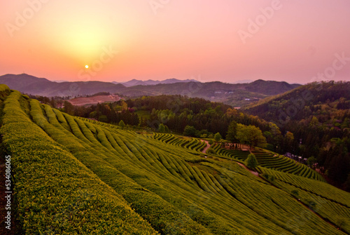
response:
<path id="1" fill-rule="evenodd" d="M 244 109 L 293 133 L 290 151 L 314 156 L 330 179 L 350 173 L 350 82 L 309 83 Z M 349 176 L 350 177 L 350 176 Z"/>

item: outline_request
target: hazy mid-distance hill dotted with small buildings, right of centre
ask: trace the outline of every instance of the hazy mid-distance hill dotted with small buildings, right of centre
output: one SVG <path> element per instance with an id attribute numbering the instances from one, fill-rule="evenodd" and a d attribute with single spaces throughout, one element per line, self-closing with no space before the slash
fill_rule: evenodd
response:
<path id="1" fill-rule="evenodd" d="M 131 98 L 142 95 L 187 95 L 188 97 L 204 98 L 241 107 L 253 101 L 266 98 L 269 95 L 284 93 L 298 86 L 300 85 L 263 80 L 239 84 L 223 83 L 220 81 L 207 83 L 160 83 L 153 86 L 131 86 L 121 91 L 121 93 Z"/>

